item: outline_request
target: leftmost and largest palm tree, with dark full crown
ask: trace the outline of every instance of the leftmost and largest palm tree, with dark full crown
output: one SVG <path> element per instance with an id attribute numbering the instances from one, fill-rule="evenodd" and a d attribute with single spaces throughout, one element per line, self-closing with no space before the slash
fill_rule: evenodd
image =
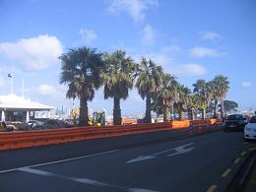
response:
<path id="1" fill-rule="evenodd" d="M 79 125 L 88 126 L 88 101 L 101 85 L 102 54 L 95 48 L 80 47 L 62 54 L 60 84 L 68 85 L 66 96 L 80 99 Z"/>

